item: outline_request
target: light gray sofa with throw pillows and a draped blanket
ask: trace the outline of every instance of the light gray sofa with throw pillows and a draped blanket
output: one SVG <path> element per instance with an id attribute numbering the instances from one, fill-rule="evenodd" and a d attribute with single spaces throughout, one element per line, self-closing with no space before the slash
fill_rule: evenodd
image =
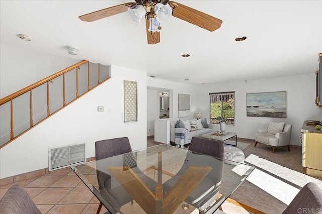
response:
<path id="1" fill-rule="evenodd" d="M 172 142 L 176 142 L 176 137 L 175 137 L 175 133 L 176 133 L 176 123 L 181 120 L 183 122 L 186 122 L 186 130 L 185 130 L 185 134 L 184 134 L 184 143 L 185 145 L 190 144 L 192 137 L 200 137 L 201 135 L 210 133 L 210 132 L 214 132 L 214 124 L 208 124 L 208 128 L 204 128 L 201 124 L 200 127 L 200 123 L 198 123 L 199 127 L 196 129 L 195 128 L 195 123 L 198 121 L 197 119 L 177 119 L 177 120 L 171 120 L 170 121 L 170 143 L 172 144 Z M 201 120 L 199 119 L 199 121 L 201 122 Z M 198 121 L 198 122 L 199 122 Z M 202 120 L 203 122 L 206 122 L 205 119 Z M 188 122 L 189 122 L 189 126 L 188 127 Z M 204 124 L 204 123 L 203 123 Z"/>

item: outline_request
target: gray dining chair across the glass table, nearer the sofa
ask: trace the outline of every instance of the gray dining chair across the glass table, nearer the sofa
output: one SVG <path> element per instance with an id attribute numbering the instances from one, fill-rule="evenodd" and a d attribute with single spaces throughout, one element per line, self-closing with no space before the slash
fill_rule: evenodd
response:
<path id="1" fill-rule="evenodd" d="M 187 153 L 186 159 L 189 161 L 184 162 L 179 172 L 163 184 L 163 188 L 169 191 L 190 166 L 210 166 L 212 169 L 208 175 L 185 199 L 187 203 L 200 210 L 204 210 L 210 206 L 219 194 L 223 169 L 224 143 L 223 141 L 193 137 L 189 150 L 192 152 Z"/>

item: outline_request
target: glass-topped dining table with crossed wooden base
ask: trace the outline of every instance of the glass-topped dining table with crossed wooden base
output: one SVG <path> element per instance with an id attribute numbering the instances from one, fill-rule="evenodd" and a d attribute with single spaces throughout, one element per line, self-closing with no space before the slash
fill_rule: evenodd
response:
<path id="1" fill-rule="evenodd" d="M 255 167 L 161 144 L 71 169 L 111 213 L 213 213 Z"/>

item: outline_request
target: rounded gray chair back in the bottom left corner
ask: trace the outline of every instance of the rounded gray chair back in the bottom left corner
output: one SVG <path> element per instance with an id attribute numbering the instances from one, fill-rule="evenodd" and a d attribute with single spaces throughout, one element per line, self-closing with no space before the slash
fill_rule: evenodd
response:
<path id="1" fill-rule="evenodd" d="M 24 187 L 16 184 L 10 187 L 0 200 L 0 213 L 41 214 L 41 211 L 37 208 Z"/>

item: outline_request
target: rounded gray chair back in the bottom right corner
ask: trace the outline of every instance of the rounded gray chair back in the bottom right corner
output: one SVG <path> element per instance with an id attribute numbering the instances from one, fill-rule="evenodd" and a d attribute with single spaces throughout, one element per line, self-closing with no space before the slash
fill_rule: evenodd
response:
<path id="1" fill-rule="evenodd" d="M 293 214 L 320 212 L 322 212 L 322 190 L 315 183 L 310 182 L 301 188 L 282 213 Z"/>

